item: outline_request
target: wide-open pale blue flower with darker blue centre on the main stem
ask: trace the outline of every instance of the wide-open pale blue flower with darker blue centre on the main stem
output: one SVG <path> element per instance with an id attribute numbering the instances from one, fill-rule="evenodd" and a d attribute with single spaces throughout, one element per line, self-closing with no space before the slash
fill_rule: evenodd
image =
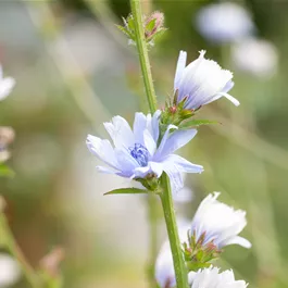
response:
<path id="1" fill-rule="evenodd" d="M 201 165 L 173 154 L 188 143 L 197 130 L 179 130 L 176 126 L 168 125 L 158 146 L 160 114 L 160 111 L 153 116 L 136 113 L 133 129 L 121 116 L 113 117 L 111 123 L 104 123 L 114 146 L 107 139 L 88 135 L 86 141 L 88 149 L 109 166 L 97 166 L 97 168 L 103 173 L 132 179 L 145 178 L 149 174 L 159 178 L 165 172 L 174 192 L 184 186 L 184 172 L 201 173 L 203 171 Z"/>

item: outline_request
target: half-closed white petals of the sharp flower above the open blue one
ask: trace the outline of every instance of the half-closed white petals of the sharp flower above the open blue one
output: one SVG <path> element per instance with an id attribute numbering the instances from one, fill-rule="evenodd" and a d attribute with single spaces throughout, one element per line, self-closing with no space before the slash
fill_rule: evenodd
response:
<path id="1" fill-rule="evenodd" d="M 187 52 L 180 51 L 174 79 L 177 103 L 186 98 L 184 108 L 195 110 L 226 97 L 239 105 L 239 101 L 227 93 L 234 86 L 233 74 L 204 54 L 205 51 L 200 51 L 199 58 L 186 66 Z"/>

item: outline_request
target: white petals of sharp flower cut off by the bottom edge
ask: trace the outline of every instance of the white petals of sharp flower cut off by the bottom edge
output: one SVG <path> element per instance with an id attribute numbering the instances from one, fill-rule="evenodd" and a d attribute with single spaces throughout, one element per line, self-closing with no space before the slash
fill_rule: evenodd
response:
<path id="1" fill-rule="evenodd" d="M 189 273 L 191 288 L 246 288 L 243 280 L 235 280 L 231 270 L 220 273 L 217 267 Z"/>

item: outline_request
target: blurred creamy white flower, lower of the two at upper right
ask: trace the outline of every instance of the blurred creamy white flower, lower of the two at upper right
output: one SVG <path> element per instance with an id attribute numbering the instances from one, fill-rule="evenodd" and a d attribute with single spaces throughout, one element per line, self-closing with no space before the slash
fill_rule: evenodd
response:
<path id="1" fill-rule="evenodd" d="M 231 58 L 237 68 L 259 77 L 271 77 L 277 71 L 277 49 L 266 40 L 246 39 L 233 47 Z"/>

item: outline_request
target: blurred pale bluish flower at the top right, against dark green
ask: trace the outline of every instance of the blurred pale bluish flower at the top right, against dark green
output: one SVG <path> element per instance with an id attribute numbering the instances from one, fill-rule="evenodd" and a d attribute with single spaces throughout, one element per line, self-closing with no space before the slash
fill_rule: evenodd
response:
<path id="1" fill-rule="evenodd" d="M 197 27 L 203 37 L 217 43 L 239 41 L 255 30 L 249 12 L 231 2 L 201 9 L 197 15 Z"/>

